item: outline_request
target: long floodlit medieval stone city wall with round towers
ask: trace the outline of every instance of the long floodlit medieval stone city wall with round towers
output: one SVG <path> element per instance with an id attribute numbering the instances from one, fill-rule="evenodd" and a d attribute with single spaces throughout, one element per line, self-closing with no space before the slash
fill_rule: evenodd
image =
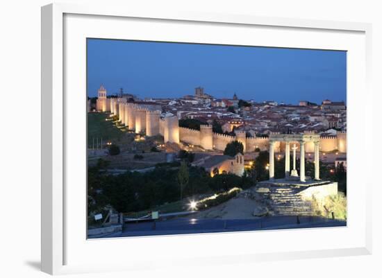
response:
<path id="1" fill-rule="evenodd" d="M 102 98 L 97 99 L 97 111 L 111 112 L 119 117 L 119 121 L 135 130 L 136 133 L 146 133 L 148 136 L 161 134 L 166 142 L 179 143 L 183 141 L 195 146 L 201 146 L 206 150 L 224 150 L 232 141 L 240 141 L 244 146 L 244 152 L 254 152 L 269 149 L 267 137 L 246 137 L 245 132 L 236 132 L 235 136 L 217 134 L 212 130 L 212 125 L 201 125 L 200 130 L 180 128 L 178 117 L 167 115 L 160 118 L 160 105 L 151 103 L 127 103 L 126 98 L 106 98 L 106 90 L 99 91 Z M 298 142 L 296 144 L 299 149 Z M 322 152 L 338 150 L 340 153 L 347 151 L 347 134 L 338 132 L 336 136 L 321 137 L 319 149 Z M 275 151 L 281 153 L 285 150 L 285 143 L 276 142 Z M 306 143 L 306 152 L 314 152 L 313 142 Z"/>

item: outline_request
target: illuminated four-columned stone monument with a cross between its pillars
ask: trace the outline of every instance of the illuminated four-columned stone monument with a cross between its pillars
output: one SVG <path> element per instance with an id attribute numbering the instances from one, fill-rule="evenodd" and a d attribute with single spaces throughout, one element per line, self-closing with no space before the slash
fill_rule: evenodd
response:
<path id="1" fill-rule="evenodd" d="M 274 180 L 274 145 L 277 141 L 285 142 L 285 179 L 298 177 L 296 170 L 296 142 L 300 145 L 300 182 L 305 177 L 305 144 L 315 144 L 315 180 L 319 180 L 319 134 L 270 134 L 269 135 L 269 180 Z M 290 171 L 290 144 L 293 143 L 293 169 Z"/>

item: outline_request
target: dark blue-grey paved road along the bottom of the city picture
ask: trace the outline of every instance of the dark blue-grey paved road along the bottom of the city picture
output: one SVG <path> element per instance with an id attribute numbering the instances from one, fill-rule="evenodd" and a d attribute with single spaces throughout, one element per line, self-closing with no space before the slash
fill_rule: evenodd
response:
<path id="1" fill-rule="evenodd" d="M 195 234 L 211 232 L 238 232 L 264 229 L 295 229 L 312 227 L 346 226 L 342 220 L 331 220 L 317 216 L 272 216 L 257 219 L 197 219 L 175 218 L 145 223 L 128 223 L 122 232 L 93 236 L 92 238 L 113 238 L 123 236 L 156 236 L 167 234 Z"/>

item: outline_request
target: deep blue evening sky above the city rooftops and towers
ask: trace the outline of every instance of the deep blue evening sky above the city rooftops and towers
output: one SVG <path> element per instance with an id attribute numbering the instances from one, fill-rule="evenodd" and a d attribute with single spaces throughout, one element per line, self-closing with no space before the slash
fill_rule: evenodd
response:
<path id="1" fill-rule="evenodd" d="M 88 39 L 88 96 L 172 98 L 194 88 L 216 98 L 346 101 L 346 52 Z"/>

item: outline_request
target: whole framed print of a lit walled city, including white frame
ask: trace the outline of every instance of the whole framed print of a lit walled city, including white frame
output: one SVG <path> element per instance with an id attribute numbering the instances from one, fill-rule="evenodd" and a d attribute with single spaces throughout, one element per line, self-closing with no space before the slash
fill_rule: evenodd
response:
<path id="1" fill-rule="evenodd" d="M 369 254 L 370 30 L 44 6 L 42 270 Z"/>

